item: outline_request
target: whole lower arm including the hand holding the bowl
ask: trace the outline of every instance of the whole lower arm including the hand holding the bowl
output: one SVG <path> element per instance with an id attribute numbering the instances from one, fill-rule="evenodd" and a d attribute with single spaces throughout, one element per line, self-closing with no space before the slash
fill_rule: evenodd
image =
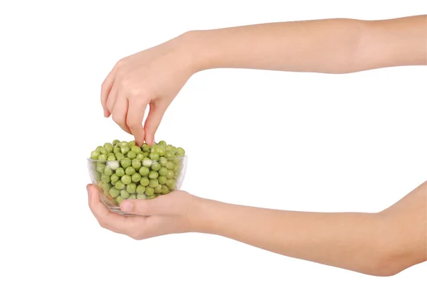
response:
<path id="1" fill-rule="evenodd" d="M 252 208 L 176 190 L 152 200 L 125 200 L 124 217 L 110 213 L 96 186 L 89 206 L 102 227 L 144 240 L 203 232 L 288 257 L 375 276 L 427 260 L 427 182 L 379 213 L 308 213 Z"/>

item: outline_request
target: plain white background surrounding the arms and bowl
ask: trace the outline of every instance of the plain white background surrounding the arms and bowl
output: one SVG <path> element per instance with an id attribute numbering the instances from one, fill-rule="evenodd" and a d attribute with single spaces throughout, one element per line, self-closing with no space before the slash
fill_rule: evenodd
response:
<path id="1" fill-rule="evenodd" d="M 0 3 L 0 284 L 426 284 L 427 264 L 380 278 L 211 235 L 131 240 L 99 227 L 85 190 L 90 151 L 132 139 L 100 105 L 100 84 L 120 58 L 194 29 L 411 16 L 427 14 L 426 1 Z M 426 75 L 200 72 L 157 141 L 186 149 L 184 189 L 195 195 L 379 211 L 427 179 Z"/>

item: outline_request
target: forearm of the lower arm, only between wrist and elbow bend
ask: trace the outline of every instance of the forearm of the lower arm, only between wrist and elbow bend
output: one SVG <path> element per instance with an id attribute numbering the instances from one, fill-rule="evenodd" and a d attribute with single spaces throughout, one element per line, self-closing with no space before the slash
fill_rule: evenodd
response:
<path id="1" fill-rule="evenodd" d="M 204 200 L 200 232 L 288 257 L 374 274 L 379 218 L 364 213 L 305 213 Z M 376 256 L 377 255 L 377 256 Z"/>

